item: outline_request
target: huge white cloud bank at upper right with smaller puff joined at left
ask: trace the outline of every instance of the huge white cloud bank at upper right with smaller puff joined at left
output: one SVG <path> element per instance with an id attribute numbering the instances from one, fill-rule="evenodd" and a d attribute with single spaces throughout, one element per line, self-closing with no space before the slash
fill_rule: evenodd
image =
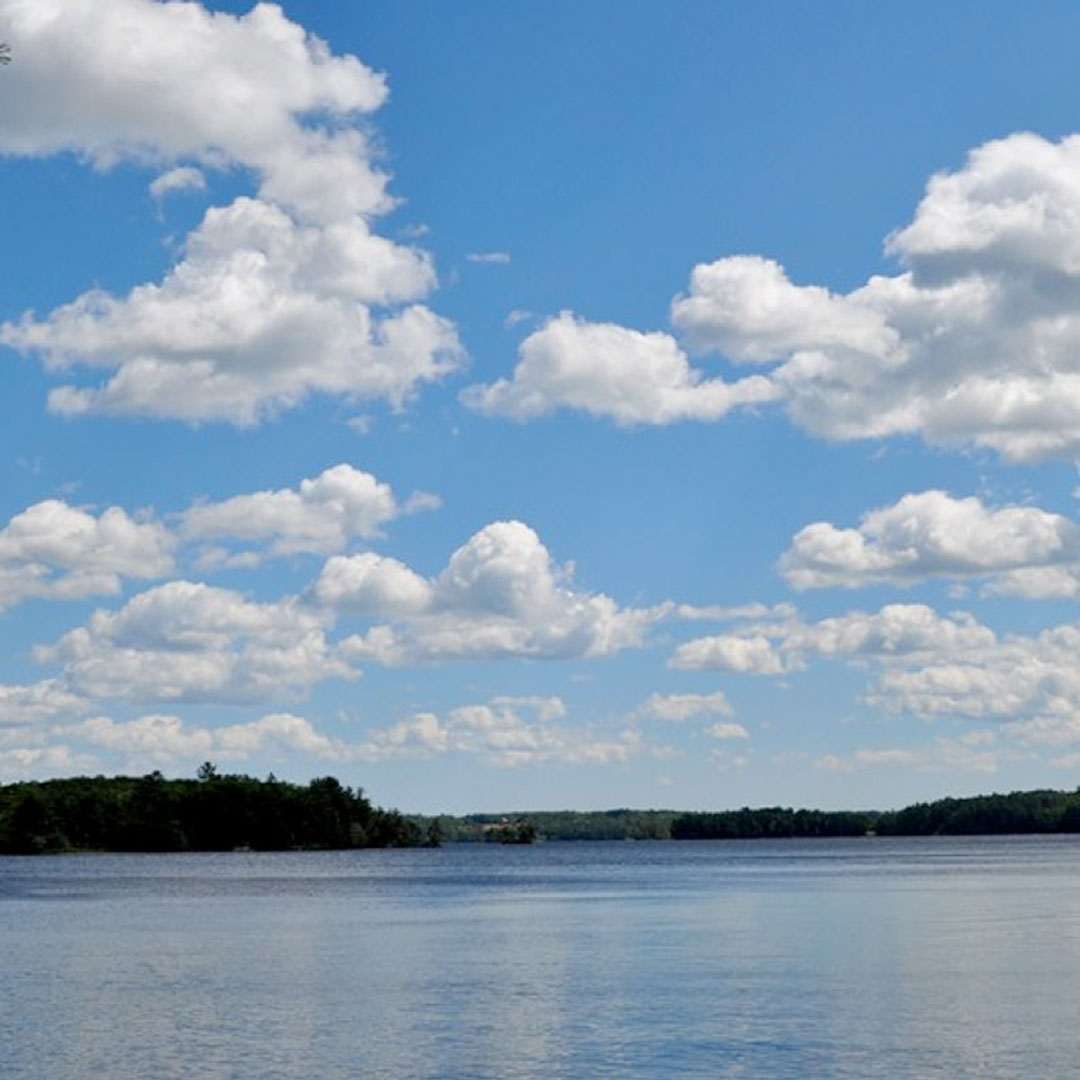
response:
<path id="1" fill-rule="evenodd" d="M 768 364 L 753 381 L 705 378 L 667 335 L 561 316 L 526 339 L 512 380 L 467 401 L 517 418 L 565 406 L 667 423 L 771 397 L 829 440 L 918 435 L 1010 461 L 1075 457 L 1078 238 L 1080 136 L 1011 135 L 930 180 L 914 220 L 888 239 L 896 275 L 834 294 L 758 256 L 694 268 L 673 325 L 699 353 Z M 663 364 L 643 361 L 646 342 Z M 643 386 L 629 396 L 635 376 Z"/>

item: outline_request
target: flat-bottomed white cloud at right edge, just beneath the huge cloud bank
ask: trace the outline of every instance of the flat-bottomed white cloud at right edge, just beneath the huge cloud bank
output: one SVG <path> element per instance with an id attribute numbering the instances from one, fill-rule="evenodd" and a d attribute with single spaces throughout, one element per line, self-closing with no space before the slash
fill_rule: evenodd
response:
<path id="1" fill-rule="evenodd" d="M 1080 528 L 1035 507 L 993 510 L 974 497 L 922 491 L 866 514 L 858 528 L 806 526 L 780 569 L 796 589 L 975 577 L 999 593 L 1074 595 Z"/>

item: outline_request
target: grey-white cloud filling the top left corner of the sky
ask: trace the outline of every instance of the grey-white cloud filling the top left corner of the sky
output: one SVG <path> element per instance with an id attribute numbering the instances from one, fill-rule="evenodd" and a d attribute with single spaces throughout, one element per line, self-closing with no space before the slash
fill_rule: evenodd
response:
<path id="1" fill-rule="evenodd" d="M 4 72 L 9 153 L 243 165 L 308 219 L 387 205 L 351 123 L 386 100 L 384 78 L 332 56 L 276 4 L 237 17 L 158 0 L 3 0 L 0 37 L 18 56 Z"/>

